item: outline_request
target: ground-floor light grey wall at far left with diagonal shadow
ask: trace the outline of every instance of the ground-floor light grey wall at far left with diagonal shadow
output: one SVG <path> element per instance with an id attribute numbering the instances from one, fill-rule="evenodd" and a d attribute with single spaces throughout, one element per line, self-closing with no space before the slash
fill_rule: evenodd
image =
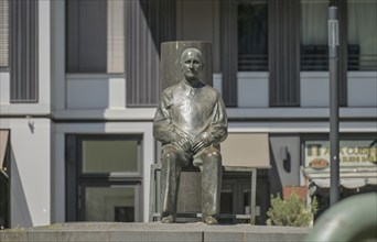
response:
<path id="1" fill-rule="evenodd" d="M 10 130 L 11 227 L 51 222 L 51 127 L 49 119 L 1 119 Z"/>

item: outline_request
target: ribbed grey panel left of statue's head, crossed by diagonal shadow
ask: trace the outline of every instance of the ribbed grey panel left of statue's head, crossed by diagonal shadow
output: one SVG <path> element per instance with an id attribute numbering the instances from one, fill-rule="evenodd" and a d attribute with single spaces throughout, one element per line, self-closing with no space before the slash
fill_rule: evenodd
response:
<path id="1" fill-rule="evenodd" d="M 160 44 L 175 38 L 175 0 L 126 1 L 127 106 L 159 100 Z"/>

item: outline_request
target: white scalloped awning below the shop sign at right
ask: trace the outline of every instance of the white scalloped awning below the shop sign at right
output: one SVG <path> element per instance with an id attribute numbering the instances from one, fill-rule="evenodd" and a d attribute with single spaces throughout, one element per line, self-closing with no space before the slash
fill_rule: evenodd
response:
<path id="1" fill-rule="evenodd" d="M 320 188 L 330 188 L 330 168 L 313 169 L 302 168 L 310 183 Z M 369 167 L 341 167 L 340 184 L 348 189 L 356 189 L 367 185 L 377 185 L 377 166 Z"/>

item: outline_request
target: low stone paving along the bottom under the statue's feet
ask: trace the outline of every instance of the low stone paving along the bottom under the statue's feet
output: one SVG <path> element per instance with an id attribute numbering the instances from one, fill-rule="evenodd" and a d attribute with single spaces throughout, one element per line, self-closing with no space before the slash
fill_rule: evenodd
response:
<path id="1" fill-rule="evenodd" d="M 0 232 L 1 242 L 143 242 L 143 241 L 303 241 L 308 228 L 265 227 L 265 226 L 206 226 L 203 222 L 161 224 L 115 223 L 115 222 L 72 222 L 29 229 L 12 229 Z"/>

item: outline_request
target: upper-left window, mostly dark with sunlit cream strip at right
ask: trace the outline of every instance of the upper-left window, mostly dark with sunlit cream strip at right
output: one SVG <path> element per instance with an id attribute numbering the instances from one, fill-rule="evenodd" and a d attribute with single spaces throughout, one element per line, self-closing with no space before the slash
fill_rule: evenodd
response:
<path id="1" fill-rule="evenodd" d="M 68 0 L 67 73 L 123 73 L 123 1 Z"/>

